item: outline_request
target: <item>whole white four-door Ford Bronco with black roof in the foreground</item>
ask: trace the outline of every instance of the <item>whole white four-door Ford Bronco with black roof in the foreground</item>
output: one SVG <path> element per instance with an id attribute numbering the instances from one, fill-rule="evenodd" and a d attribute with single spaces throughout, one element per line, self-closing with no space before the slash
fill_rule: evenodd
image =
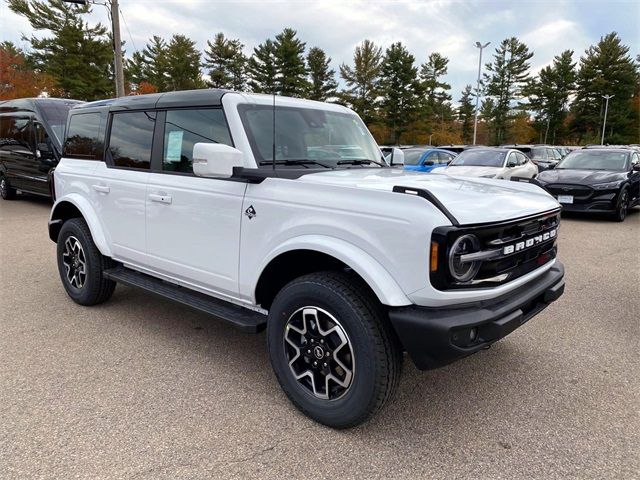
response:
<path id="1" fill-rule="evenodd" d="M 49 235 L 81 305 L 117 283 L 266 328 L 290 400 L 347 428 L 564 290 L 538 186 L 388 168 L 351 110 L 199 90 L 69 113 Z"/>

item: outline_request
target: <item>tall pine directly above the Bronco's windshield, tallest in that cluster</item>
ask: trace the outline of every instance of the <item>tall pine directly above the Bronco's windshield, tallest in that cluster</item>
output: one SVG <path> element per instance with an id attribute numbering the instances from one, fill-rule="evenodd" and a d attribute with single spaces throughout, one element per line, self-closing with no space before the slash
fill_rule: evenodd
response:
<path id="1" fill-rule="evenodd" d="M 303 97 L 307 91 L 307 67 L 304 60 L 305 43 L 291 28 L 276 35 L 276 69 L 278 92 L 289 97 Z"/>

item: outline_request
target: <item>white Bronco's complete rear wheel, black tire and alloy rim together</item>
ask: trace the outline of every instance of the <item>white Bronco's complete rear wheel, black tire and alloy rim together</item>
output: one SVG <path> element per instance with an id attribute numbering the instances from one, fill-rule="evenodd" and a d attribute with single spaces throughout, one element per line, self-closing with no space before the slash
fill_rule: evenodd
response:
<path id="1" fill-rule="evenodd" d="M 112 266 L 91 237 L 82 218 L 67 220 L 58 235 L 58 272 L 67 294 L 80 305 L 97 305 L 108 300 L 116 287 L 104 278 L 103 272 Z"/>

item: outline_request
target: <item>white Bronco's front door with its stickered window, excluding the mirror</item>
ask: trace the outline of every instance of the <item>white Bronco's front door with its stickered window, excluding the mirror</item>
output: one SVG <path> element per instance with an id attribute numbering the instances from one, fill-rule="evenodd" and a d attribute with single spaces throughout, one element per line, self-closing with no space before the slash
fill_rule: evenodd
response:
<path id="1" fill-rule="evenodd" d="M 193 146 L 233 146 L 221 108 L 158 114 L 159 158 L 146 190 L 146 238 L 155 272 L 222 296 L 238 296 L 246 183 L 196 177 Z"/>

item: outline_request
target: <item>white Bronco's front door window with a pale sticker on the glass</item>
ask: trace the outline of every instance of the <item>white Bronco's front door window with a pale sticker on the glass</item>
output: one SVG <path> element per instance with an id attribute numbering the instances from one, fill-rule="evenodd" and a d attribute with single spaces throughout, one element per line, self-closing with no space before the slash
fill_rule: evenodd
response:
<path id="1" fill-rule="evenodd" d="M 192 173 L 193 146 L 199 142 L 232 145 L 221 109 L 167 111 L 162 170 Z"/>

